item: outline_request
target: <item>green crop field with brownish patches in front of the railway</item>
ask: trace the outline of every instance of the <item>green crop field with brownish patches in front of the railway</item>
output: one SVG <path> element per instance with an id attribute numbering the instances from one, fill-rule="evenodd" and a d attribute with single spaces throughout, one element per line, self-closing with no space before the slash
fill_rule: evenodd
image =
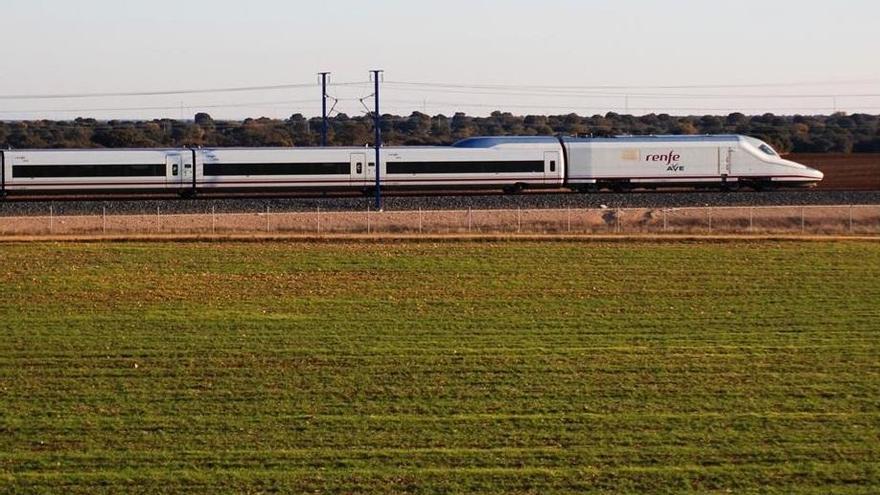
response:
<path id="1" fill-rule="evenodd" d="M 0 245 L 0 492 L 878 493 L 880 243 Z"/>

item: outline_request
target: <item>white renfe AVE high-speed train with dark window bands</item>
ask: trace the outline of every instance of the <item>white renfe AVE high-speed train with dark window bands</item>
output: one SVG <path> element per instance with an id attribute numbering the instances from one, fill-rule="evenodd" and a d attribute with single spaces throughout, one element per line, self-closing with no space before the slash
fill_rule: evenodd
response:
<path id="1" fill-rule="evenodd" d="M 823 178 L 738 135 L 477 137 L 380 157 L 383 189 L 763 190 Z M 374 151 L 354 147 L 4 150 L 0 194 L 369 191 L 376 169 Z"/>

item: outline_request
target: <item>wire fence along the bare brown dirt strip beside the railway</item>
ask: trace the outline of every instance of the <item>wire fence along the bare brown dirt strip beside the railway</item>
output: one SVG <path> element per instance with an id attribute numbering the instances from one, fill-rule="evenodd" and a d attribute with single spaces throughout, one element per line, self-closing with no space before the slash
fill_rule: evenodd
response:
<path id="1" fill-rule="evenodd" d="M 0 216 L 0 236 L 146 234 L 880 234 L 880 205 Z"/>

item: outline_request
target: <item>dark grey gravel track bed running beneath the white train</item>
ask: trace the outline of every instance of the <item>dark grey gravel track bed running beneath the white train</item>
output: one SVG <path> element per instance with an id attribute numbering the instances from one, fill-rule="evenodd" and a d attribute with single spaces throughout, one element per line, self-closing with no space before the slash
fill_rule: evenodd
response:
<path id="1" fill-rule="evenodd" d="M 595 194 L 444 194 L 392 195 L 385 198 L 389 211 L 455 209 L 541 209 L 541 208 L 678 208 L 692 206 L 782 206 L 782 205 L 865 205 L 880 204 L 880 191 L 775 191 L 775 192 L 652 192 Z M 40 198 L 0 202 L 0 216 L 78 214 L 164 213 L 249 213 L 295 211 L 366 211 L 374 208 L 373 199 L 360 195 L 279 196 L 278 194 L 242 197 L 105 197 L 64 199 Z"/>

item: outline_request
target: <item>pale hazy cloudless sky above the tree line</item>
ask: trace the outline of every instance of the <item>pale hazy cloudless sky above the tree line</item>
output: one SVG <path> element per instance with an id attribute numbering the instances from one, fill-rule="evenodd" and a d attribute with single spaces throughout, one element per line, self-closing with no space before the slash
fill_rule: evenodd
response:
<path id="1" fill-rule="evenodd" d="M 321 71 L 362 115 L 371 69 L 383 113 L 880 114 L 876 0 L 0 4 L 2 120 L 320 116 Z"/>

